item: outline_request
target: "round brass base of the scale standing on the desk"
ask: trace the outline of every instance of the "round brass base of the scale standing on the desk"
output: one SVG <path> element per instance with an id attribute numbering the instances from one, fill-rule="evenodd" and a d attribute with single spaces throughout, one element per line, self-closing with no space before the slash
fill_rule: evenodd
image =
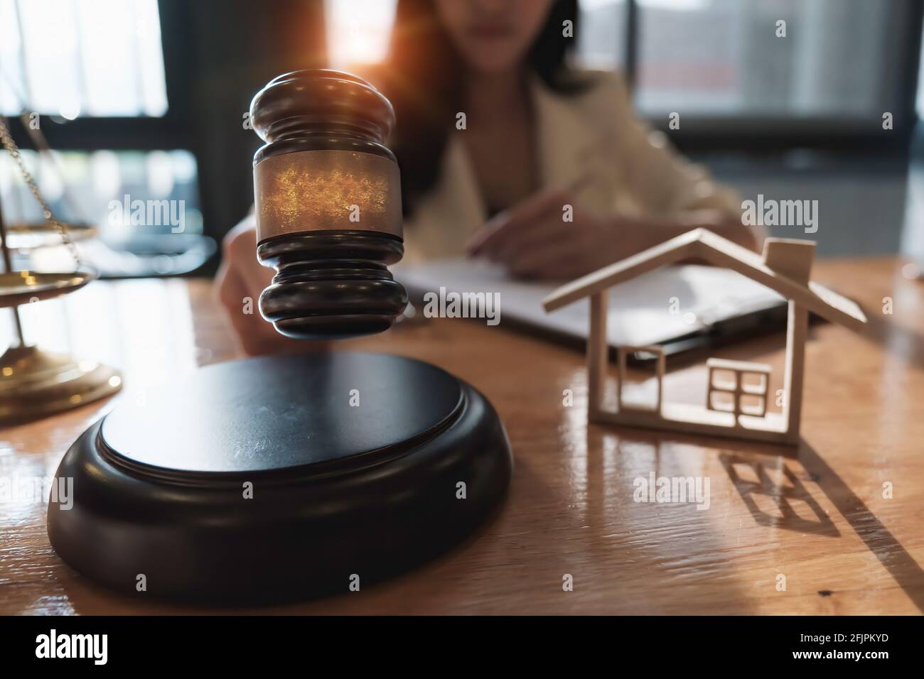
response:
<path id="1" fill-rule="evenodd" d="M 118 371 L 37 346 L 11 346 L 0 356 L 0 424 L 43 418 L 115 394 Z"/>

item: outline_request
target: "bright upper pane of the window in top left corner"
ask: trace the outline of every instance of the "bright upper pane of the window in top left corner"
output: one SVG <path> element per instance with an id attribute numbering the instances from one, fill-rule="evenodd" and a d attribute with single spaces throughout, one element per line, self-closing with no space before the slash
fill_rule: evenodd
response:
<path id="1" fill-rule="evenodd" d="M 164 115 L 157 0 L 0 0 L 0 114 Z"/>

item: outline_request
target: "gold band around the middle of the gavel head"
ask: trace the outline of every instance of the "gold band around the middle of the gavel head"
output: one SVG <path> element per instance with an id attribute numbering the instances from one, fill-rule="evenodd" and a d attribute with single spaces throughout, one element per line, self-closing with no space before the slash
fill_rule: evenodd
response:
<path id="1" fill-rule="evenodd" d="M 253 168 L 257 242 L 302 231 L 376 231 L 402 237 L 398 166 L 380 155 L 298 151 Z"/>

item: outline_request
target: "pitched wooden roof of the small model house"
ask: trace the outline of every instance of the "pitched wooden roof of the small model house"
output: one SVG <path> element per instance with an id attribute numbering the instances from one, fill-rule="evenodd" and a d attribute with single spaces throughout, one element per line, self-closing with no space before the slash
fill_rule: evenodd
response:
<path id="1" fill-rule="evenodd" d="M 810 241 L 771 239 L 774 245 L 792 244 L 808 245 Z M 786 299 L 795 300 L 821 318 L 845 325 L 852 330 L 859 330 L 866 323 L 866 316 L 856 302 L 824 285 L 813 281 L 803 283 L 781 270 L 774 270 L 756 252 L 742 248 L 736 243 L 713 234 L 706 229 L 694 229 L 686 234 L 676 236 L 653 248 L 626 257 L 625 260 L 605 266 L 602 269 L 582 276 L 566 285 L 562 285 L 551 295 L 542 300 L 546 311 L 561 309 L 572 302 L 601 292 L 614 285 L 659 269 L 675 261 L 698 258 L 714 266 L 731 269 L 737 273 L 766 285 Z"/>

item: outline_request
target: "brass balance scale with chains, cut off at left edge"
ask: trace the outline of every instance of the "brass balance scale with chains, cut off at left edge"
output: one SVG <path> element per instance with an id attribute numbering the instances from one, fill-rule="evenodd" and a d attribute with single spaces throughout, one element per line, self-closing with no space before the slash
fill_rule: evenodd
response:
<path id="1" fill-rule="evenodd" d="M 41 130 L 31 129 L 27 120 L 24 119 L 23 123 L 36 147 L 40 152 L 48 152 Z M 122 386 L 122 378 L 115 369 L 95 361 L 79 360 L 26 343 L 19 318 L 20 306 L 75 292 L 97 277 L 92 268 L 80 259 L 69 233 L 73 231 L 75 237 L 88 237 L 95 230 L 86 224 L 68 226 L 55 218 L 26 167 L 3 116 L 0 116 L 0 143 L 17 165 L 23 181 L 42 208 L 44 218 L 44 224 L 7 226 L 0 205 L 0 246 L 4 263 L 4 272 L 0 273 L 0 308 L 10 309 L 13 314 L 18 340 L 0 356 L 0 426 L 4 426 L 41 418 L 115 394 Z M 58 244 L 55 242 L 58 237 L 74 260 L 74 271 L 14 271 L 12 249 L 28 250 Z M 17 238 L 21 241 L 19 247 L 16 246 Z"/>

